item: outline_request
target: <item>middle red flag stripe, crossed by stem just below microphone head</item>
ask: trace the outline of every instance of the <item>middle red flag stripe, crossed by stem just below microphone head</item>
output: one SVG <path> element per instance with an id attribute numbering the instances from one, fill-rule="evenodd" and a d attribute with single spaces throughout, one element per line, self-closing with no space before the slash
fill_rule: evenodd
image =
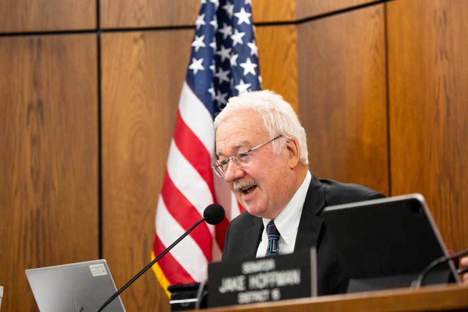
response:
<path id="1" fill-rule="evenodd" d="M 194 223 L 200 220 L 201 216 L 195 207 L 185 198 L 185 196 L 176 188 L 168 175 L 167 171 L 164 176 L 162 185 L 161 196 L 166 204 L 168 212 L 176 219 L 185 231 L 190 229 Z M 206 223 L 198 225 L 191 233 L 190 236 L 195 240 L 196 244 L 200 247 L 206 259 L 210 262 L 212 259 L 212 242 L 213 237 L 208 230 Z"/>

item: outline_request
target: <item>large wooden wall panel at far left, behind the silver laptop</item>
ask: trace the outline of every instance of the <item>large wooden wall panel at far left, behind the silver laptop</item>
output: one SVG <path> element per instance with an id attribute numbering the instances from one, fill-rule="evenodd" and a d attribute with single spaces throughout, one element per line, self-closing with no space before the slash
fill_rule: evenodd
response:
<path id="1" fill-rule="evenodd" d="M 2 311 L 36 311 L 25 269 L 98 258 L 96 43 L 0 38 Z"/>

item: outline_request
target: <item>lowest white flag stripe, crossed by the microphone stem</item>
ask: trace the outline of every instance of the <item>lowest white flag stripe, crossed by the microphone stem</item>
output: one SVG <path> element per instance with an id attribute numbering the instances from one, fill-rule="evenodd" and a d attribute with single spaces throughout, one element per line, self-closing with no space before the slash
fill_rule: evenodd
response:
<path id="1" fill-rule="evenodd" d="M 184 232 L 185 230 L 167 211 L 162 196 L 159 196 L 156 212 L 156 235 L 164 247 L 171 245 Z M 182 239 L 170 253 L 195 281 L 201 282 L 206 279 L 208 261 L 190 235 Z"/>

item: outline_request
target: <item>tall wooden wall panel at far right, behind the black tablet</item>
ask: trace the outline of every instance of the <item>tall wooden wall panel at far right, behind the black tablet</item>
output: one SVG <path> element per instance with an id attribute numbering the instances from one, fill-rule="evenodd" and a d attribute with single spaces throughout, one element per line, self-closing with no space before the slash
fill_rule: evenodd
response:
<path id="1" fill-rule="evenodd" d="M 468 248 L 468 6 L 388 4 L 392 195 L 419 192 L 448 248 Z"/>

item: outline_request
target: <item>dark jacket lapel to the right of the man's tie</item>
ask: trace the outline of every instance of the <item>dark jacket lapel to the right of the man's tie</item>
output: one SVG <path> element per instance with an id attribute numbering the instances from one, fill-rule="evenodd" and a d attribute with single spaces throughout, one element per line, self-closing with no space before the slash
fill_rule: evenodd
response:
<path id="1" fill-rule="evenodd" d="M 325 185 L 315 176 L 312 176 L 309 190 L 304 200 L 304 206 L 302 207 L 294 251 L 317 246 L 318 235 L 323 222 L 322 218 L 318 217 L 317 214 L 322 210 L 324 205 Z"/>

